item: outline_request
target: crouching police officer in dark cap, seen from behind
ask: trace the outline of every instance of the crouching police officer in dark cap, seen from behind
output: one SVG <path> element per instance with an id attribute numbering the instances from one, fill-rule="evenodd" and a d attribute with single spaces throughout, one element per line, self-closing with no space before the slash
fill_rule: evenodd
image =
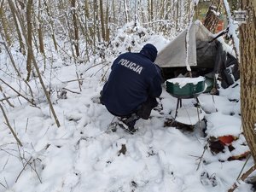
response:
<path id="1" fill-rule="evenodd" d="M 148 119 L 158 103 L 162 88 L 160 67 L 154 64 L 157 49 L 146 44 L 139 53 L 127 52 L 113 61 L 108 81 L 101 92 L 101 102 L 108 111 L 136 131 L 137 119 Z"/>

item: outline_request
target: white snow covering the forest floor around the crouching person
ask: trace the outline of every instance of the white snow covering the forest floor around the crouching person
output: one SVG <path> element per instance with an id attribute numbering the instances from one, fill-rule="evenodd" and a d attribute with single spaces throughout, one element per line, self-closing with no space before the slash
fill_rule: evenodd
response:
<path id="1" fill-rule="evenodd" d="M 120 33 L 123 32 L 120 30 Z M 201 108 L 207 113 L 205 117 L 209 122 L 207 137 L 203 137 L 198 128 L 183 131 L 165 126 L 166 119 L 171 118 L 171 113 L 175 111 L 177 98 L 168 94 L 164 86 L 158 99 L 162 109 L 153 110 L 148 120 L 139 119 L 135 135 L 120 129 L 115 132 L 108 130 L 108 125 L 115 119 L 99 103 L 98 97 L 104 84 L 102 76 L 108 77 L 114 56 L 126 51 L 128 41 L 137 39 L 126 33 L 123 37 L 119 48 L 106 50 L 107 55 L 111 51 L 113 54 L 109 54 L 104 62 L 91 58 L 90 62 L 75 66 L 73 61 L 61 60 L 57 53 L 48 53 L 54 60 L 51 65 L 47 63 L 43 78 L 47 88 L 52 90 L 51 99 L 61 124 L 59 128 L 55 125 L 37 78 L 29 82 L 37 108 L 1 84 L 1 98 L 3 93 L 12 96 L 9 102 L 15 108 L 7 102 L 1 104 L 23 144 L 23 147 L 17 145 L 1 113 L 1 192 L 218 192 L 227 191 L 236 182 L 245 160 L 228 161 L 227 158 L 248 150 L 241 134 L 239 81 L 236 87 L 220 89 L 219 96 L 207 93 L 199 96 Z M 119 41 L 119 34 L 115 41 Z M 138 51 L 147 43 L 155 44 L 160 50 L 166 42 L 167 39 L 155 34 L 147 35 L 143 40 L 137 39 L 132 51 Z M 0 59 L 7 63 L 8 55 L 2 51 Z M 22 55 L 15 50 L 13 52 L 20 69 L 25 68 L 26 61 Z M 76 72 L 82 74 L 82 91 L 75 80 Z M 14 80 L 9 74 L 14 74 L 13 69 L 1 63 L 2 79 L 28 95 L 29 91 L 22 81 Z M 26 76 L 25 69 L 22 74 Z M 193 83 L 199 80 L 201 78 Z M 185 82 L 188 83 L 187 80 Z M 63 88 L 67 89 L 66 99 L 58 95 Z M 232 102 L 234 99 L 238 102 Z M 192 108 L 194 104 L 195 99 L 183 99 L 184 108 Z M 226 134 L 238 137 L 234 142 L 236 151 L 212 154 L 207 148 L 204 153 L 208 137 Z M 121 153 L 124 146 L 126 151 Z M 253 159 L 250 158 L 245 170 L 252 165 Z M 236 191 L 252 191 L 251 185 L 242 183 Z"/>

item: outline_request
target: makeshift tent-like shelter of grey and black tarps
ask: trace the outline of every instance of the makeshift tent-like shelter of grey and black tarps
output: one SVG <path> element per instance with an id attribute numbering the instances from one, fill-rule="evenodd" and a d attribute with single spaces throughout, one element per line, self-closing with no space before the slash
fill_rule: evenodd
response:
<path id="1" fill-rule="evenodd" d="M 164 79 L 184 75 L 189 65 L 192 77 L 205 76 L 212 82 L 218 77 L 223 88 L 234 84 L 239 79 L 236 57 L 228 51 L 229 45 L 215 37 L 199 20 L 181 32 L 156 58 Z"/>

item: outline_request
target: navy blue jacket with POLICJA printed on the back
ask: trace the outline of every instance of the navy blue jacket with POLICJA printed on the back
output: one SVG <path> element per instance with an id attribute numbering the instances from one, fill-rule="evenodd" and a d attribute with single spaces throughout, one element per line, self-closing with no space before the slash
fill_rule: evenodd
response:
<path id="1" fill-rule="evenodd" d="M 102 102 L 118 116 L 134 113 L 148 96 L 162 92 L 160 67 L 141 53 L 125 53 L 113 61 L 108 82 L 102 90 Z"/>

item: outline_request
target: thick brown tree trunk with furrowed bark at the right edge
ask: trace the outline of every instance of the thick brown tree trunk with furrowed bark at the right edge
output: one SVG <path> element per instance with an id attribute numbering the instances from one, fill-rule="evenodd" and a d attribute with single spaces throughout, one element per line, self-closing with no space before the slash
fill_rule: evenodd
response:
<path id="1" fill-rule="evenodd" d="M 254 1 L 254 2 L 253 2 Z M 254 4 L 253 4 L 254 3 Z M 242 0 L 241 9 L 250 10 L 251 18 L 240 27 L 241 51 L 241 124 L 256 163 L 256 3 Z"/>

